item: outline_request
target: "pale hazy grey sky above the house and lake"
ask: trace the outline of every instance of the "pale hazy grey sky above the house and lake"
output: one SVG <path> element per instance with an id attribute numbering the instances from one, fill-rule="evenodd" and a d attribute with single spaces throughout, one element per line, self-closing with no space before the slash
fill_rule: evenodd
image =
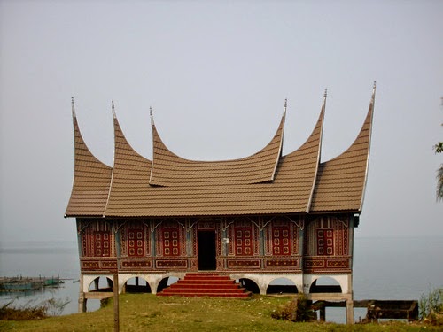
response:
<path id="1" fill-rule="evenodd" d="M 357 236 L 442 235 L 442 1 L 0 0 L 0 241 L 74 240 L 71 97 L 83 138 L 113 164 L 114 100 L 152 158 L 149 108 L 190 159 L 305 142 L 328 89 L 323 161 L 354 142 L 377 97 Z M 149 171 L 149 170 L 147 170 Z"/>

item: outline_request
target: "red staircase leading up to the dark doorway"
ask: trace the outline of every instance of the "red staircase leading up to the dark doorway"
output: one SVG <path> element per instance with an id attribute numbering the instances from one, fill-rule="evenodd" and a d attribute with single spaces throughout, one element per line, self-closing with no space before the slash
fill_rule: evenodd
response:
<path id="1" fill-rule="evenodd" d="M 229 275 L 213 273 L 185 274 L 183 279 L 157 293 L 160 297 L 251 297 L 252 293 L 242 288 Z"/>

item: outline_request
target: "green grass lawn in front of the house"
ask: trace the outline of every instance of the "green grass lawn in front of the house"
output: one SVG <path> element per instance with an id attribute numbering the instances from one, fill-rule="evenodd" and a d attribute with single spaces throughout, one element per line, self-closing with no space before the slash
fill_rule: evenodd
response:
<path id="1" fill-rule="evenodd" d="M 292 323 L 270 317 L 289 297 L 251 299 L 156 297 L 120 295 L 120 331 L 420 331 L 420 324 L 346 326 L 331 323 Z M 43 320 L 0 321 L 1 331 L 113 331 L 113 301 L 94 313 L 75 313 Z M 437 329 L 433 329 L 437 330 Z"/>

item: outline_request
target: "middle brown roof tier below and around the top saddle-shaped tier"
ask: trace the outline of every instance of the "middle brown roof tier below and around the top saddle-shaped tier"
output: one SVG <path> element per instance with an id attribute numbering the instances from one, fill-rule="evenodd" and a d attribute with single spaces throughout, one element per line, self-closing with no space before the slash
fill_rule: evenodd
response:
<path id="1" fill-rule="evenodd" d="M 168 186 L 150 186 L 147 172 L 150 161 L 139 156 L 130 147 L 114 117 L 115 166 L 113 185 L 104 214 L 135 217 L 305 212 L 315 182 L 322 124 L 323 112 L 307 143 L 286 156 L 284 161 L 280 160 L 274 181 L 248 183 L 244 179 L 236 179 L 232 174 L 223 174 L 220 169 L 226 167 L 221 167 L 215 168 L 220 172 L 214 176 L 215 181 L 211 176 L 206 176 L 207 174 L 200 175 L 198 179 L 197 172 L 195 179 L 190 182 L 169 181 Z M 277 137 L 283 132 L 283 125 L 281 122 Z M 276 136 L 269 145 L 279 139 Z M 268 149 L 267 147 L 262 151 Z M 260 152 L 253 156 L 257 155 Z M 232 165 L 236 162 L 238 174 L 242 170 L 242 163 L 253 167 L 248 158 L 231 161 Z M 200 162 L 196 162 L 198 163 Z M 221 162 L 224 163 L 227 162 Z M 218 162 L 209 164 L 217 166 Z M 294 169 L 298 165 L 303 166 Z M 184 173 L 182 169 L 180 172 Z M 247 169 L 244 174 L 247 174 Z M 171 175 L 176 178 L 175 174 Z M 183 176 L 190 175 L 184 173 Z M 223 181 L 223 176 L 229 180 Z"/>

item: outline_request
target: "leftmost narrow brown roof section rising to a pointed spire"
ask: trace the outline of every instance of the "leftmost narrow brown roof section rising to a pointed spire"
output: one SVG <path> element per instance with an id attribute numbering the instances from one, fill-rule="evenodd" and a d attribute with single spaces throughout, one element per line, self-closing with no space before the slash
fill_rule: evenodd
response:
<path id="1" fill-rule="evenodd" d="M 102 216 L 113 168 L 95 158 L 83 141 L 72 100 L 74 124 L 74 183 L 66 217 Z"/>

